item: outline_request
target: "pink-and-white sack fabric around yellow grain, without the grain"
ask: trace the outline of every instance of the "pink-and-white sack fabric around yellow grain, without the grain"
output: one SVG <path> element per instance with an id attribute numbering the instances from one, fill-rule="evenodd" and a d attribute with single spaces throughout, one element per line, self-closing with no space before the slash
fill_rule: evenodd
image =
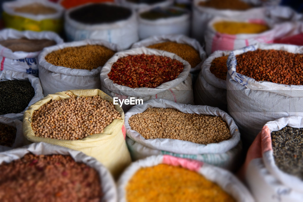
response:
<path id="1" fill-rule="evenodd" d="M 254 22 L 259 24 L 267 24 L 270 29 L 268 31 L 259 33 L 259 34 L 223 34 L 217 32 L 213 28 L 215 22 L 220 21 L 233 21 L 233 22 Z M 241 18 L 214 18 L 212 19 L 207 26 L 205 33 L 205 49 L 206 53 L 210 55 L 216 50 L 236 50 L 255 43 L 272 43 L 276 35 L 286 34 L 286 30 L 291 29 L 291 23 L 283 23 L 281 25 L 274 25 L 266 22 L 264 19 L 258 19 L 256 16 L 255 19 L 243 20 Z"/>

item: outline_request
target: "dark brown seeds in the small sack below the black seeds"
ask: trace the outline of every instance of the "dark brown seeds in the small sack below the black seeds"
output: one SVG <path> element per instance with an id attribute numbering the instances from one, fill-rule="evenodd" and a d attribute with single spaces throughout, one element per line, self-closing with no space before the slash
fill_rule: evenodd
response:
<path id="1" fill-rule="evenodd" d="M 0 123 L 0 145 L 12 147 L 16 138 L 17 129 Z"/>

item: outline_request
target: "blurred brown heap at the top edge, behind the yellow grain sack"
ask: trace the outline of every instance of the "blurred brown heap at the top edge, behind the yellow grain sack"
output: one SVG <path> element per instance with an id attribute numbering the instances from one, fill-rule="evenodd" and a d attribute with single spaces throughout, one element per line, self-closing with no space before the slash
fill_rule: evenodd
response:
<path id="1" fill-rule="evenodd" d="M 249 8 L 252 8 L 251 5 L 241 0 L 208 0 L 199 2 L 199 6 L 229 10 L 247 10 Z"/>

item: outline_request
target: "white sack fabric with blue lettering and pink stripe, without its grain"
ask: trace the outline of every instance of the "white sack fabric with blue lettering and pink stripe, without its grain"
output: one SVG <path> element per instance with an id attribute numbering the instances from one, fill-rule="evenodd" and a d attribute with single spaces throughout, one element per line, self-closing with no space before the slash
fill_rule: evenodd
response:
<path id="1" fill-rule="evenodd" d="M 60 38 L 55 32 L 33 32 L 33 31 L 17 31 L 15 29 L 4 29 L 0 31 L 0 41 L 7 39 L 48 39 L 54 40 L 57 44 L 63 43 L 63 39 Z M 0 71 L 2 70 L 14 70 L 18 72 L 24 72 L 32 74 L 38 77 L 38 52 L 24 52 L 15 51 L 5 48 L 0 45 Z"/>

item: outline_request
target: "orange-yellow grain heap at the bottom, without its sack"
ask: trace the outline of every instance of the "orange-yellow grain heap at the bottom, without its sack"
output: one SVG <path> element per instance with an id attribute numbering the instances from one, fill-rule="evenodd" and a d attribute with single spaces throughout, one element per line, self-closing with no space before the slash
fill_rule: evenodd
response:
<path id="1" fill-rule="evenodd" d="M 201 174 L 166 164 L 141 168 L 129 180 L 125 190 L 129 202 L 235 201 Z"/>

